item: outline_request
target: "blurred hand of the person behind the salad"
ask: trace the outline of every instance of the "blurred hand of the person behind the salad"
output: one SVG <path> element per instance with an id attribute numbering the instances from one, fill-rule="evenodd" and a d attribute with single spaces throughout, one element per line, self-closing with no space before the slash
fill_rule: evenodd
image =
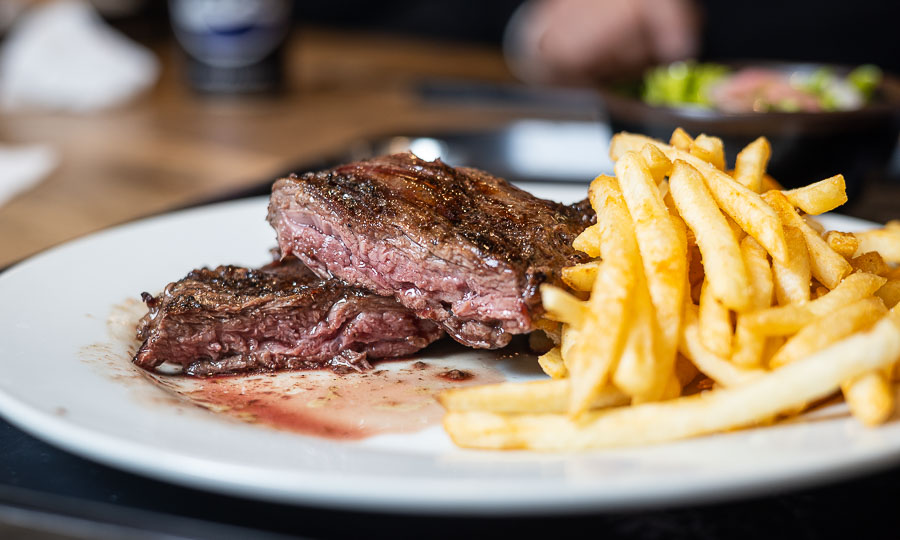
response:
<path id="1" fill-rule="evenodd" d="M 510 19 L 507 61 L 522 80 L 582 83 L 695 56 L 692 0 L 529 0 Z"/>

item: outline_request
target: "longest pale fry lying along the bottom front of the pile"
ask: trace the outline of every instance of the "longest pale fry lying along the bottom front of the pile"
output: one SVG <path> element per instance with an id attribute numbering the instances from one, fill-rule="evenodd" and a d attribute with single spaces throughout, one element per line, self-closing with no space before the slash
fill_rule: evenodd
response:
<path id="1" fill-rule="evenodd" d="M 660 443 L 746 427 L 814 402 L 843 381 L 891 366 L 900 356 L 900 326 L 875 327 L 745 384 L 659 403 L 587 413 L 578 421 L 552 414 L 449 413 L 444 427 L 460 446 L 579 450 Z"/>

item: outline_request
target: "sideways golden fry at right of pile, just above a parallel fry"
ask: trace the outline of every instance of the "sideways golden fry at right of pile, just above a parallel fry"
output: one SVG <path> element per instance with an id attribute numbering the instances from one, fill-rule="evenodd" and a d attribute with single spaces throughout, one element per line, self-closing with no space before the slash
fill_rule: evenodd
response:
<path id="1" fill-rule="evenodd" d="M 798 332 L 816 317 L 875 294 L 886 282 L 885 278 L 874 274 L 850 274 L 828 294 L 806 304 L 789 304 L 743 314 L 738 317 L 738 328 L 746 324 L 763 335 L 787 336 Z"/>

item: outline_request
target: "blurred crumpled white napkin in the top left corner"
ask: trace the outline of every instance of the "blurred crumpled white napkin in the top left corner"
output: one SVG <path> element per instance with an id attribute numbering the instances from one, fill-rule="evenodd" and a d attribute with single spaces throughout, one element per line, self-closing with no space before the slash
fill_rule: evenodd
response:
<path id="1" fill-rule="evenodd" d="M 153 85 L 159 62 L 80 0 L 42 3 L 0 50 L 0 107 L 90 112 Z"/>

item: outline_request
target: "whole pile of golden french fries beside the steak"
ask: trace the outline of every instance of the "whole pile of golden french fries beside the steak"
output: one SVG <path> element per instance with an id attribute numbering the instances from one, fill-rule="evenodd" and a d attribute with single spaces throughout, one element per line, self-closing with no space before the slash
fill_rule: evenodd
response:
<path id="1" fill-rule="evenodd" d="M 840 175 L 784 190 L 759 138 L 725 170 L 722 141 L 619 133 L 590 186 L 591 262 L 541 289 L 550 376 L 439 396 L 453 441 L 577 450 L 769 424 L 841 393 L 865 425 L 894 409 L 900 222 L 825 231 Z"/>

